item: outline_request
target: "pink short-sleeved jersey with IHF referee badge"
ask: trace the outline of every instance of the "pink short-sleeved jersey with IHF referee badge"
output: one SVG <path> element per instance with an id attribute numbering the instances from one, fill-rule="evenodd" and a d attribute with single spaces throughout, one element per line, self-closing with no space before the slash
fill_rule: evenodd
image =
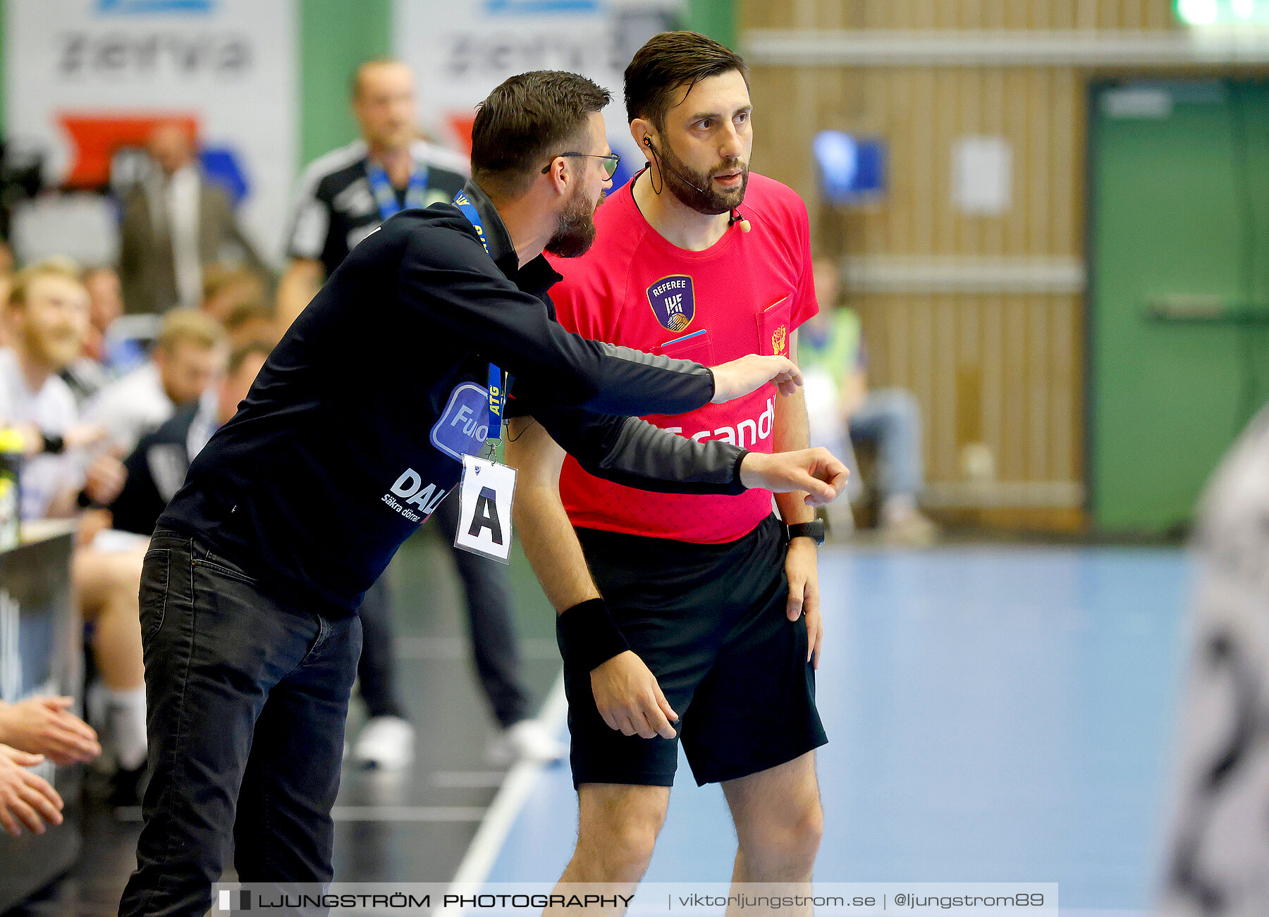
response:
<path id="1" fill-rule="evenodd" d="M 739 209 L 751 231 L 736 224 L 706 251 L 688 251 L 648 226 L 632 185 L 595 213 L 599 235 L 589 252 L 552 259 L 563 274 L 551 289 L 560 323 L 585 337 L 706 365 L 754 353 L 788 355 L 789 334 L 819 311 L 802 199 L 750 172 Z M 646 420 L 681 436 L 769 453 L 780 397 L 764 386 L 725 405 Z M 772 511 L 769 491 L 648 493 L 588 474 L 572 457 L 560 493 L 574 525 L 699 544 L 742 538 Z"/>

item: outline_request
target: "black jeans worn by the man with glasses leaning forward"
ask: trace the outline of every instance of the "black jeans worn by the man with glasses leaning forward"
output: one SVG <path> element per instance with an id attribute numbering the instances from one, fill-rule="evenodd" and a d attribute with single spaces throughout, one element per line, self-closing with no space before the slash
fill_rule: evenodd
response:
<path id="1" fill-rule="evenodd" d="M 231 835 L 242 881 L 330 881 L 357 615 L 284 604 L 156 531 L 141 635 L 152 776 L 119 913 L 206 913 Z"/>

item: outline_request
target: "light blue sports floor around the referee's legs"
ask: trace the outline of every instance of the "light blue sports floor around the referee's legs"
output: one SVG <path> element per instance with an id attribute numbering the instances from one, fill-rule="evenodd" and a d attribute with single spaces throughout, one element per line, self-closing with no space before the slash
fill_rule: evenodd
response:
<path id="1" fill-rule="evenodd" d="M 1057 881 L 1145 911 L 1183 670 L 1189 561 L 1136 548 L 821 553 L 825 881 Z M 548 770 L 487 879 L 551 881 L 576 800 Z M 726 881 L 717 786 L 680 760 L 650 881 Z"/>

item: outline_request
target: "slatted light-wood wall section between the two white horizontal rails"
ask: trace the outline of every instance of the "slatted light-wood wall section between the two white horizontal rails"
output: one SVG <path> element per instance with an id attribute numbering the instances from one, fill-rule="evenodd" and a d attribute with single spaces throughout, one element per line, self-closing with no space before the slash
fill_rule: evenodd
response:
<path id="1" fill-rule="evenodd" d="M 822 71 L 822 72 L 821 72 Z M 1080 250 L 1084 82 L 1067 68 L 756 66 L 755 167 L 813 202 L 813 131 L 887 140 L 890 188 L 844 214 L 850 254 L 1068 255 Z M 1000 218 L 950 202 L 950 150 L 966 134 L 1004 136 L 1013 205 Z M 820 214 L 812 214 L 817 217 Z"/>

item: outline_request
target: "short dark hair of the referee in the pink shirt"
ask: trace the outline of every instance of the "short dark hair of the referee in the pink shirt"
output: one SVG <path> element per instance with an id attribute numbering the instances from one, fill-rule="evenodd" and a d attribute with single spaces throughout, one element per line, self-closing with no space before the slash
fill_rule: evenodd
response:
<path id="1" fill-rule="evenodd" d="M 626 67 L 626 117 L 643 118 L 665 129 L 674 90 L 688 91 L 709 76 L 740 71 L 749 85 L 745 58 L 699 32 L 661 32 L 647 39 Z"/>

